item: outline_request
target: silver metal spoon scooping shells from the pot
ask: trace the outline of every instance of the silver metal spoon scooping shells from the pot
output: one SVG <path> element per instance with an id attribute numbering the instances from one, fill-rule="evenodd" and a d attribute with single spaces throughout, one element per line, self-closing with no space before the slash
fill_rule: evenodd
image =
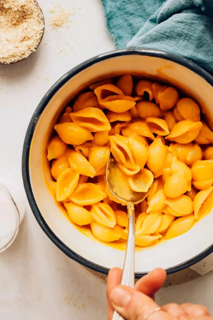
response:
<path id="1" fill-rule="evenodd" d="M 118 174 L 119 167 L 112 154 L 107 162 L 106 181 L 113 196 L 125 202 L 128 211 L 128 238 L 126 255 L 124 260 L 121 285 L 134 288 L 134 251 L 135 251 L 135 213 L 134 204 L 143 201 L 148 192 L 135 192 L 126 183 L 125 177 Z M 117 311 L 114 311 L 112 320 L 123 319 Z"/>

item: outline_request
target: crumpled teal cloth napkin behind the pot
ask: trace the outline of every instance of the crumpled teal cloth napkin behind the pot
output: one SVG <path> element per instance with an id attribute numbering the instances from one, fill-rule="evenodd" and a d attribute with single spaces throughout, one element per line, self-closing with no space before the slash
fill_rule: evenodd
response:
<path id="1" fill-rule="evenodd" d="M 178 54 L 213 73 L 213 0 L 102 0 L 119 49 Z"/>

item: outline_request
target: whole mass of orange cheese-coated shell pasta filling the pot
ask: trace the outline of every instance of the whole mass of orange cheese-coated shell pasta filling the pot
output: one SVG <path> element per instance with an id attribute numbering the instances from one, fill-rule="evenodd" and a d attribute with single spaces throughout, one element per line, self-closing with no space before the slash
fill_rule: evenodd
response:
<path id="1" fill-rule="evenodd" d="M 213 207 L 213 132 L 179 89 L 131 74 L 89 84 L 60 115 L 47 145 L 49 190 L 87 236 L 125 244 L 125 203 L 106 184 L 110 153 L 135 206 L 136 246 L 181 236 Z M 124 246 L 122 247 L 124 248 Z"/>

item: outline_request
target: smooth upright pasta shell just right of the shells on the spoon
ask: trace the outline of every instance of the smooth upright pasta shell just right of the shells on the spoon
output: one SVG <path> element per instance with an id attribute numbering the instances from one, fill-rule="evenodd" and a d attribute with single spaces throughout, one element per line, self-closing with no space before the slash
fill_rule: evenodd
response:
<path id="1" fill-rule="evenodd" d="M 160 138 L 153 141 L 148 147 L 147 166 L 154 174 L 154 178 L 160 176 L 166 164 L 166 148 Z"/>

